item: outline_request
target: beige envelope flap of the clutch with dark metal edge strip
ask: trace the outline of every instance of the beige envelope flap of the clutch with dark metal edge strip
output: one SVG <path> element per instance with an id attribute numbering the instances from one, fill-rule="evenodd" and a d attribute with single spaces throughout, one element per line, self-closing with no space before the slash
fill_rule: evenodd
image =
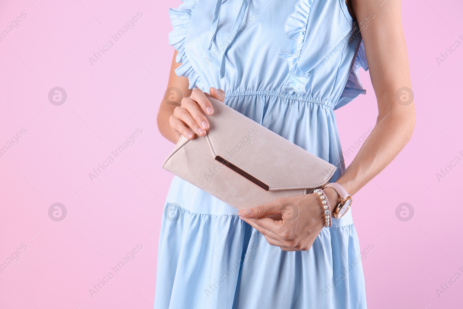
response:
<path id="1" fill-rule="evenodd" d="M 214 107 L 207 115 L 205 137 L 211 155 L 263 189 L 316 188 L 329 181 L 336 167 L 275 132 L 209 98 Z M 178 144 L 177 144 L 178 145 Z"/>

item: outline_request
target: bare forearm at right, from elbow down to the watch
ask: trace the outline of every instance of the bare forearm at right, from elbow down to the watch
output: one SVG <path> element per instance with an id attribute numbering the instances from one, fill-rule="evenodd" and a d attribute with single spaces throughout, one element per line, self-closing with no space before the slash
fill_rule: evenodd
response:
<path id="1" fill-rule="evenodd" d="M 374 130 L 336 182 L 354 195 L 392 162 L 412 137 L 414 126 L 413 104 L 380 113 Z"/>

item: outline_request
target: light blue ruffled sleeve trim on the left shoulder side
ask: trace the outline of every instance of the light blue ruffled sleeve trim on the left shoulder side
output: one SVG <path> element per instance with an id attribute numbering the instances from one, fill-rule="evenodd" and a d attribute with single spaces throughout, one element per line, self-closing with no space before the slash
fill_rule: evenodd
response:
<path id="1" fill-rule="evenodd" d="M 187 77 L 190 89 L 194 87 L 202 89 L 200 76 L 198 72 L 193 69 L 185 50 L 188 27 L 195 5 L 196 0 L 184 0 L 178 8 L 169 9 L 170 21 L 174 28 L 174 30 L 169 32 L 169 44 L 174 46 L 175 50 L 178 51 L 175 61 L 181 63 L 181 65 L 175 69 L 175 74 L 177 74 L 177 76 Z"/>

